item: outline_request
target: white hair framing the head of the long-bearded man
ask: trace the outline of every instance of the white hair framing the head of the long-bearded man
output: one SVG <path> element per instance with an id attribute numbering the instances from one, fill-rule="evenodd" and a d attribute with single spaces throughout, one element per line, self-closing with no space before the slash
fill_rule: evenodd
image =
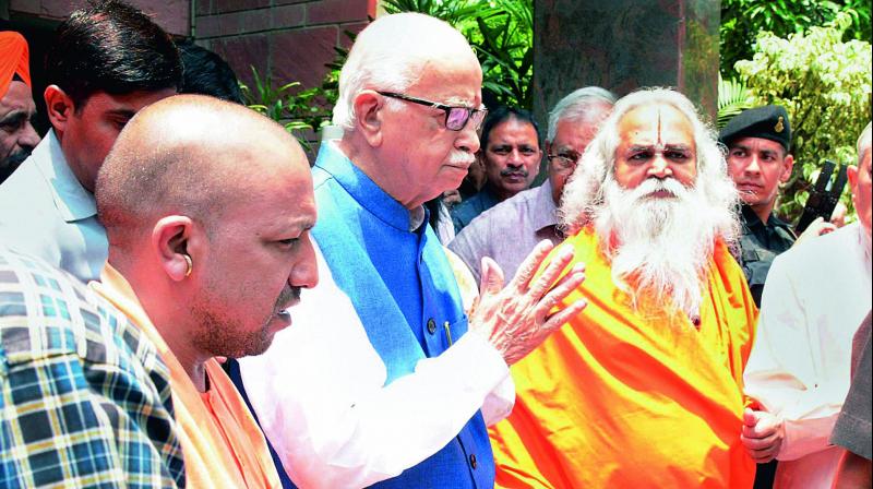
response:
<path id="1" fill-rule="evenodd" d="M 674 107 L 691 121 L 697 148 L 697 178 L 701 187 L 715 205 L 737 205 L 737 190 L 727 174 L 725 154 L 718 145 L 716 132 L 701 120 L 697 109 L 684 95 L 669 88 L 642 88 L 622 97 L 603 121 L 597 136 L 588 145 L 576 171 L 564 190 L 560 217 L 569 232 L 575 232 L 603 204 L 603 183 L 614 178 L 615 150 L 619 147 L 619 122 L 631 110 L 647 105 Z M 722 237 L 730 241 L 737 229 L 726 223 Z"/>

